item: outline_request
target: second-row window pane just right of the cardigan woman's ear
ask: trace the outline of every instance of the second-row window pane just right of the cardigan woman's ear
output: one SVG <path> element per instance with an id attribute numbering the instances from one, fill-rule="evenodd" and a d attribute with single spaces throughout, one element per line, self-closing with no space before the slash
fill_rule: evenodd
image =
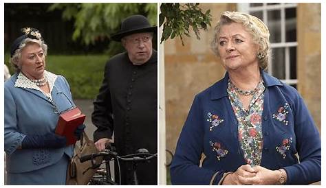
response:
<path id="1" fill-rule="evenodd" d="M 285 79 L 285 48 L 273 48 L 272 49 L 272 75 L 280 80 Z"/>

